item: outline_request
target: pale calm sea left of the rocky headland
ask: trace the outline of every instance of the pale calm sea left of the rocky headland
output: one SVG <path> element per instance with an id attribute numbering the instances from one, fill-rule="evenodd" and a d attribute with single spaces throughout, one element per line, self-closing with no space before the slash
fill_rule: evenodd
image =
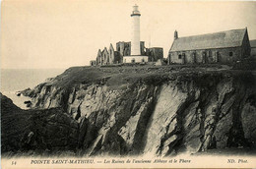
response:
<path id="1" fill-rule="evenodd" d="M 23 95 L 17 96 L 17 92 L 29 87 L 33 88 L 64 71 L 65 69 L 1 69 L 0 91 L 11 98 L 18 107 L 28 109 L 24 101 L 31 100 L 31 98 Z"/>

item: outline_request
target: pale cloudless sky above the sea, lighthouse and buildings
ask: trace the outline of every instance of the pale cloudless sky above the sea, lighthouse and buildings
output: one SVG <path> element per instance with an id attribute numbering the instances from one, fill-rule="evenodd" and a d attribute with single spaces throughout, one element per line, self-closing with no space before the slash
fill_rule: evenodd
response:
<path id="1" fill-rule="evenodd" d="M 256 1 L 2 0 L 1 68 L 89 65 L 98 49 L 130 41 L 132 6 L 141 12 L 141 41 L 162 47 L 179 36 L 248 28 L 256 39 Z"/>

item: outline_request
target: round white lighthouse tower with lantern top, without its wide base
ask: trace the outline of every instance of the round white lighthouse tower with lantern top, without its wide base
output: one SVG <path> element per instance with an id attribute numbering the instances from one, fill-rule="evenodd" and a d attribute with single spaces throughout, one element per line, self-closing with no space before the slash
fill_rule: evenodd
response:
<path id="1" fill-rule="evenodd" d="M 140 11 L 138 6 L 133 6 L 131 14 L 132 18 L 132 39 L 131 39 L 131 55 L 141 55 L 140 46 Z"/>

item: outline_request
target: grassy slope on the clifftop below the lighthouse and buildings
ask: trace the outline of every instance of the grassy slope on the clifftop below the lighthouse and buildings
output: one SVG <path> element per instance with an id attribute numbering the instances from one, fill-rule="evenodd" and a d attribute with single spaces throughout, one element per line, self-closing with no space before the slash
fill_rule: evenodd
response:
<path id="1" fill-rule="evenodd" d="M 196 69 L 195 69 L 196 68 Z M 174 65 L 174 66 L 122 66 L 122 67 L 72 67 L 57 76 L 53 84 L 62 88 L 69 88 L 75 84 L 107 84 L 119 88 L 125 84 L 138 81 L 159 83 L 161 80 L 172 79 L 173 76 L 205 75 L 220 73 L 220 65 Z"/>

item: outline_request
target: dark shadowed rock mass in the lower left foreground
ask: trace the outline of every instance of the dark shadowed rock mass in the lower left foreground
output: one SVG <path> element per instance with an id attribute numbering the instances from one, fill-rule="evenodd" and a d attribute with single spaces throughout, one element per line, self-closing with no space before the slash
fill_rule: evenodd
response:
<path id="1" fill-rule="evenodd" d="M 22 110 L 1 96 L 1 152 L 34 154 L 76 149 L 78 123 L 59 108 Z"/>

